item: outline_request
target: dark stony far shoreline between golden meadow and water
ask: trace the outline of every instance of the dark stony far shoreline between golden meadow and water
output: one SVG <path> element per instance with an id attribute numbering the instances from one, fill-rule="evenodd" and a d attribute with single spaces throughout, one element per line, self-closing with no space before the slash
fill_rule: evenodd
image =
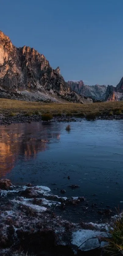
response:
<path id="1" fill-rule="evenodd" d="M 76 117 L 76 116 L 55 116 L 52 120 L 49 121 L 42 121 L 41 115 L 23 115 L 23 114 L 17 114 L 16 116 L 9 116 L 0 114 L 0 125 L 10 125 L 12 123 L 31 123 L 31 122 L 43 122 L 43 123 L 49 123 L 49 122 L 81 122 L 81 120 L 88 120 L 88 121 L 94 121 L 94 120 L 122 120 L 123 114 L 121 115 L 100 115 L 98 117 L 92 117 L 92 118 L 86 118 L 86 117 Z"/>

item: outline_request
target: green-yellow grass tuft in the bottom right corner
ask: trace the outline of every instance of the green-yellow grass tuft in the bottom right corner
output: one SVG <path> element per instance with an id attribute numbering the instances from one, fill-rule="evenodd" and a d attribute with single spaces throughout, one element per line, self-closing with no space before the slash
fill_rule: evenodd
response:
<path id="1" fill-rule="evenodd" d="M 111 225 L 110 237 L 105 240 L 109 243 L 106 251 L 114 255 L 123 255 L 123 215 L 119 215 Z"/>

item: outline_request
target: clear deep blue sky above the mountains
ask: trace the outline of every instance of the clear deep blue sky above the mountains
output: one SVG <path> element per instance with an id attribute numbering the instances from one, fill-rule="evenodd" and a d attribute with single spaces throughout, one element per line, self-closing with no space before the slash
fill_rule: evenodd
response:
<path id="1" fill-rule="evenodd" d="M 0 30 L 65 80 L 115 86 L 123 76 L 123 0 L 0 0 L 0 9 Z"/>

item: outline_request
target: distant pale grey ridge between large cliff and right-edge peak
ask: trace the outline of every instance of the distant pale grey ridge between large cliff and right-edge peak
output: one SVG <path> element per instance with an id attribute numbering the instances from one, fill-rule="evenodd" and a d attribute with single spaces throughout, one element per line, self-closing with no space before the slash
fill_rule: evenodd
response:
<path id="1" fill-rule="evenodd" d="M 94 100 L 103 100 L 106 97 L 107 87 L 105 85 L 85 85 L 82 80 L 79 82 L 68 81 L 71 90 L 81 94 L 82 96 L 92 97 Z"/>

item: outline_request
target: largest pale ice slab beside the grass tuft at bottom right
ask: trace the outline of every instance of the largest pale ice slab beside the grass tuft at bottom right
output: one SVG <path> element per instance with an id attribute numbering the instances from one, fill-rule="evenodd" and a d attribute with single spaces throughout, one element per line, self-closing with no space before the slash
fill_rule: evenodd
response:
<path id="1" fill-rule="evenodd" d="M 80 229 L 76 232 L 73 232 L 71 243 L 77 247 L 82 244 L 80 247 L 81 251 L 89 251 L 98 247 L 102 247 L 98 239 L 99 236 L 107 237 L 107 233 L 95 230 Z"/>

